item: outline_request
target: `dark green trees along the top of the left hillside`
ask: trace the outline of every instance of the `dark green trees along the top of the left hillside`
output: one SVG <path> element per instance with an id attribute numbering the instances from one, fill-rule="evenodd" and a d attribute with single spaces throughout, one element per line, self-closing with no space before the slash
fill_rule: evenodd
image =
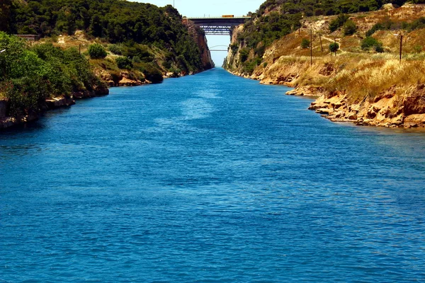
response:
<path id="1" fill-rule="evenodd" d="M 175 58 L 184 71 L 203 69 L 196 41 L 183 25 L 179 11 L 170 5 L 160 8 L 122 0 L 2 1 L 0 30 L 7 33 L 56 37 L 84 30 L 105 42 L 157 47 Z M 180 55 L 183 59 L 177 60 Z"/>

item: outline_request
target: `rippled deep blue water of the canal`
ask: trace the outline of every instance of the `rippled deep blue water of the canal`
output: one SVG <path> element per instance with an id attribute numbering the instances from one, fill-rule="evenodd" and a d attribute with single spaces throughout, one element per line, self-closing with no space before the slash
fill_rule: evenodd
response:
<path id="1" fill-rule="evenodd" d="M 0 282 L 424 282 L 425 134 L 222 69 L 0 133 Z"/>

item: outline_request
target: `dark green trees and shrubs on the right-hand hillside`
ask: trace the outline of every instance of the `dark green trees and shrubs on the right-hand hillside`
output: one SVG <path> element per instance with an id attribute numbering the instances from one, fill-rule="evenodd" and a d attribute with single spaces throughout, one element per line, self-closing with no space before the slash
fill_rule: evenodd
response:
<path id="1" fill-rule="evenodd" d="M 346 13 L 376 11 L 384 4 L 402 5 L 405 2 L 406 0 L 267 0 L 256 13 L 251 14 L 251 19 L 244 24 L 242 33 L 238 33 L 237 42 L 233 43 L 240 49 L 239 52 L 243 50 L 249 56 L 244 56 L 244 61 L 231 63 L 235 63 L 245 74 L 251 74 L 251 65 L 254 62 L 256 66 L 261 65 L 266 47 L 301 28 L 301 21 L 308 16 L 338 15 L 329 22 L 329 31 L 332 33 L 341 29 L 344 35 L 353 35 L 358 28 Z M 413 2 L 424 3 L 425 1 L 414 0 Z M 412 29 L 424 26 L 425 21 L 418 20 L 406 25 Z M 380 27 L 375 28 L 375 30 L 379 29 Z M 379 46 L 377 49 L 382 50 Z M 233 50 L 234 47 L 232 47 Z"/>

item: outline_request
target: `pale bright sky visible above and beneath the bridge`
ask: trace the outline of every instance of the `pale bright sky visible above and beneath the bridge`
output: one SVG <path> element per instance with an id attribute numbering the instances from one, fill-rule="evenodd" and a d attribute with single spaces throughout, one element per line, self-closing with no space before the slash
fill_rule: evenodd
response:
<path id="1" fill-rule="evenodd" d="M 244 16 L 248 12 L 255 12 L 266 0 L 133 0 L 137 2 L 150 3 L 157 6 L 173 5 L 182 16 L 203 17 L 203 16 L 222 16 L 234 15 Z M 228 35 L 207 35 L 208 46 L 229 45 L 230 37 Z M 225 47 L 217 47 L 226 49 Z M 216 49 L 216 48 L 214 48 Z M 212 60 L 217 67 L 222 65 L 227 52 L 211 52 Z"/>

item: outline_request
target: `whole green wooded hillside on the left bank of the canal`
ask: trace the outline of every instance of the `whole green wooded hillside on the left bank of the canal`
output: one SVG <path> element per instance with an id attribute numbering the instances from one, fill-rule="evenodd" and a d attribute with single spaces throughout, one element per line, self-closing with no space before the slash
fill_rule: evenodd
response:
<path id="1" fill-rule="evenodd" d="M 170 5 L 4 0 L 0 8 L 0 50 L 6 50 L 0 57 L 0 127 L 105 94 L 107 86 L 159 83 L 214 67 L 205 34 L 183 23 Z M 42 39 L 26 42 L 11 34 Z"/>

